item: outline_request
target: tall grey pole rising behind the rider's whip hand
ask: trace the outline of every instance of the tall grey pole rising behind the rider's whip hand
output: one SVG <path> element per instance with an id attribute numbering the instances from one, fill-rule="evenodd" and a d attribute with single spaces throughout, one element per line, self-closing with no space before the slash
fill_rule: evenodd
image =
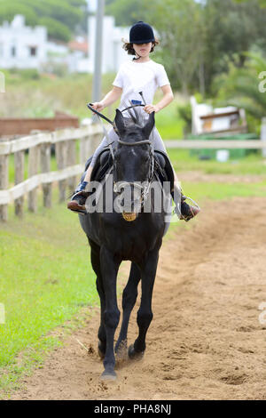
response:
<path id="1" fill-rule="evenodd" d="M 105 0 L 98 0 L 96 13 L 96 36 L 92 100 L 101 99 L 102 88 L 102 54 L 103 54 L 103 20 L 105 13 Z"/>

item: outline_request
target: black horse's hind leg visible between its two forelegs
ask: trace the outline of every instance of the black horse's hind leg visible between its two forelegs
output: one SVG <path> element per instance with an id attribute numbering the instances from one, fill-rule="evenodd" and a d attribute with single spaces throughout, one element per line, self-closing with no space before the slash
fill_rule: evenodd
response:
<path id="1" fill-rule="evenodd" d="M 123 351 L 127 350 L 127 336 L 129 328 L 129 318 L 132 309 L 137 300 L 137 285 L 140 280 L 140 269 L 134 262 L 131 263 L 128 284 L 124 288 L 122 296 L 123 318 L 121 324 L 121 331 L 118 341 L 115 344 L 114 351 L 123 356 Z"/>

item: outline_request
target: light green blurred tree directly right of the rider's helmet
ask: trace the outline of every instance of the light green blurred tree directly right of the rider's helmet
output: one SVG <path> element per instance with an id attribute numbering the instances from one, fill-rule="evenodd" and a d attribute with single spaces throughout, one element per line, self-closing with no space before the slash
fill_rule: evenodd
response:
<path id="1" fill-rule="evenodd" d="M 163 63 L 174 87 L 188 92 L 204 52 L 203 9 L 193 0 L 154 0 L 146 6 L 160 36 Z"/>

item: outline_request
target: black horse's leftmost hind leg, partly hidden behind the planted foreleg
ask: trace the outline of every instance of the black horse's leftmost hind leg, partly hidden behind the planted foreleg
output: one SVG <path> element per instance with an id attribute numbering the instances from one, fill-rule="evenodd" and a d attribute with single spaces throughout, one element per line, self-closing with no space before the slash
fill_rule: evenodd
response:
<path id="1" fill-rule="evenodd" d="M 97 279 L 96 279 L 96 286 L 98 290 L 98 295 L 100 298 L 101 304 L 101 319 L 100 319 L 100 326 L 98 328 L 98 354 L 100 358 L 104 358 L 106 355 L 106 327 L 104 323 L 104 312 L 106 309 L 106 296 L 103 286 L 103 279 L 101 276 L 101 269 L 100 269 L 100 257 L 99 252 L 100 248 L 97 244 L 89 239 L 90 243 L 90 261 L 92 265 L 92 269 L 94 269 Z"/>

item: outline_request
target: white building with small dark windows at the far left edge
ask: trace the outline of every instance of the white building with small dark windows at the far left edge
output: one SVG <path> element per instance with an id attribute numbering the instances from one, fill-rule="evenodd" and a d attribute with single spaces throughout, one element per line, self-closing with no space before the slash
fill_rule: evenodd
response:
<path id="1" fill-rule="evenodd" d="M 46 28 L 29 28 L 24 16 L 16 15 L 0 27 L 0 68 L 39 69 L 47 57 L 46 44 Z"/>

